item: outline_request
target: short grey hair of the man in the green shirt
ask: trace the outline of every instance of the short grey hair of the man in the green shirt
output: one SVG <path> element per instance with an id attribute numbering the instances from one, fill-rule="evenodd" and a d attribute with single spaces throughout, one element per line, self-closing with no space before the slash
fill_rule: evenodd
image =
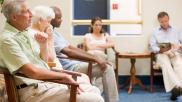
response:
<path id="1" fill-rule="evenodd" d="M 26 0 L 5 0 L 2 5 L 2 13 L 6 17 L 7 21 L 10 20 L 11 15 L 14 13 L 20 13 L 21 4 Z"/>

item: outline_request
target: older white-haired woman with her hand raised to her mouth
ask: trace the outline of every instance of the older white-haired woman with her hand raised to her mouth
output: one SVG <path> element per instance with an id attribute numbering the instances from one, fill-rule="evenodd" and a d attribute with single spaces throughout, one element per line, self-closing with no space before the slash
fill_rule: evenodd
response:
<path id="1" fill-rule="evenodd" d="M 37 6 L 32 10 L 32 27 L 29 30 L 31 36 L 40 45 L 40 56 L 45 62 L 55 62 L 56 67 L 62 67 L 56 58 L 53 41 L 53 30 L 50 21 L 55 17 L 50 7 Z"/>

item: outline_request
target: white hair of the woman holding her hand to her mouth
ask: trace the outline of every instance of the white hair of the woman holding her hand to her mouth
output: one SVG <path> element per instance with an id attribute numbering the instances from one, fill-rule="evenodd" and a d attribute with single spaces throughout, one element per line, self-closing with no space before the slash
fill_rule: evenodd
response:
<path id="1" fill-rule="evenodd" d="M 32 23 L 37 23 L 40 18 L 44 20 L 53 19 L 55 17 L 54 11 L 47 6 L 37 6 L 32 10 Z"/>

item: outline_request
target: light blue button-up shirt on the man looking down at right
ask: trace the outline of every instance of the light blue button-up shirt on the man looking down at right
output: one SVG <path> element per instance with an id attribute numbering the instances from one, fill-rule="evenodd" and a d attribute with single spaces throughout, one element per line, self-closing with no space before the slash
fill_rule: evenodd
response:
<path id="1" fill-rule="evenodd" d="M 167 30 L 158 27 L 152 32 L 152 37 L 150 39 L 150 50 L 154 53 L 158 53 L 160 51 L 158 43 L 180 44 L 181 42 L 182 33 L 178 30 L 171 26 L 169 26 Z"/>

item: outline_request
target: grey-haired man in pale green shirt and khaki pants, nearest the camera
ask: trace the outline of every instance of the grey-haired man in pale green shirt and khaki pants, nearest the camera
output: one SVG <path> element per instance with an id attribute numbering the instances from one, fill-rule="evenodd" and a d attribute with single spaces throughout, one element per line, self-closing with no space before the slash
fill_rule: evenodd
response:
<path id="1" fill-rule="evenodd" d="M 9 0 L 2 12 L 7 18 L 3 33 L 0 34 L 0 66 L 8 68 L 11 74 L 22 73 L 30 78 L 15 76 L 21 102 L 68 102 L 68 87 L 36 79 L 57 79 L 75 82 L 65 73 L 49 70 L 41 59 L 39 45 L 29 36 L 32 13 L 25 0 Z M 36 86 L 36 87 L 35 87 Z M 87 84 L 86 87 L 92 87 Z M 77 102 L 104 102 L 99 90 L 92 87 L 77 95 Z"/>

